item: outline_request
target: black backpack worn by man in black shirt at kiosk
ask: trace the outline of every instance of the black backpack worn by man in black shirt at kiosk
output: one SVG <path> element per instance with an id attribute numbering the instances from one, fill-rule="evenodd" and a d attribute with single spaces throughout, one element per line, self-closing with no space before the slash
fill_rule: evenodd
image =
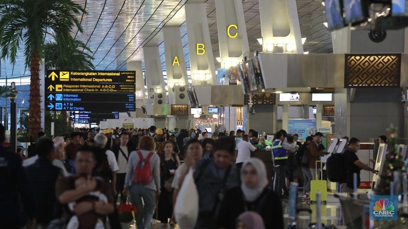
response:
<path id="1" fill-rule="evenodd" d="M 347 168 L 344 165 L 344 155 L 333 153 L 326 161 L 327 178 L 331 182 L 346 182 Z"/>

